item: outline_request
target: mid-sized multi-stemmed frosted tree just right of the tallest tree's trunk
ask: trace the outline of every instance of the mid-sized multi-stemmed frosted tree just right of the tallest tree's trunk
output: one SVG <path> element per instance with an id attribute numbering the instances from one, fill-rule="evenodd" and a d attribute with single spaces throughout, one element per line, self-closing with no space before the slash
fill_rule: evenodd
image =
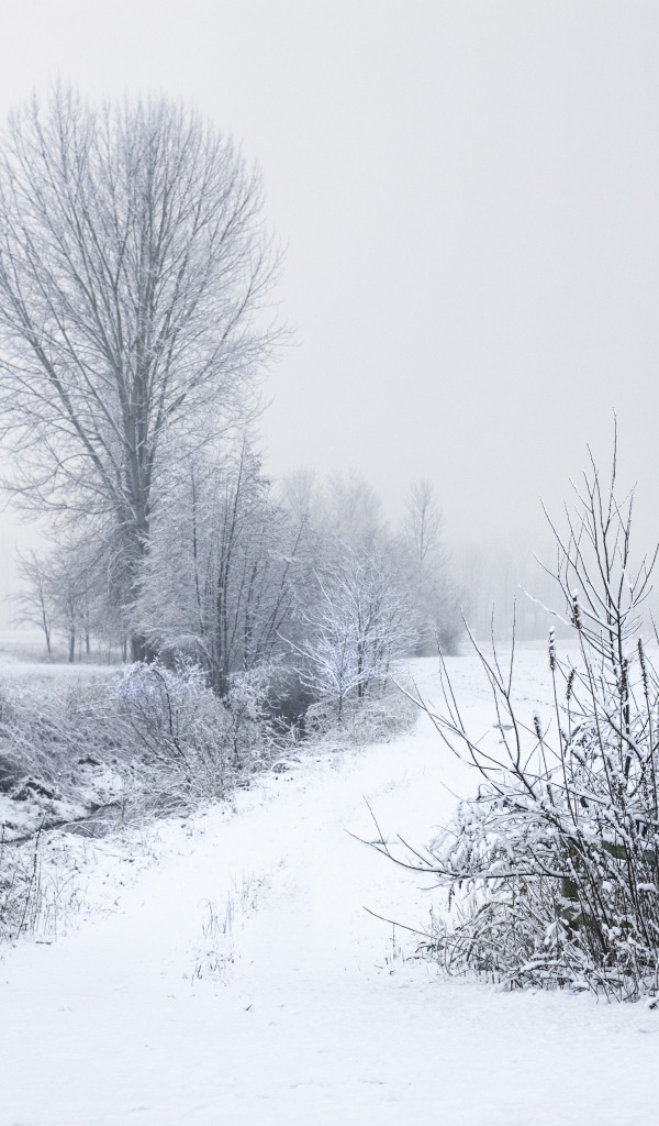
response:
<path id="1" fill-rule="evenodd" d="M 236 673 L 283 650 L 304 520 L 272 499 L 247 444 L 224 462 L 199 461 L 156 521 L 139 609 L 159 651 L 183 651 L 226 696 Z"/>

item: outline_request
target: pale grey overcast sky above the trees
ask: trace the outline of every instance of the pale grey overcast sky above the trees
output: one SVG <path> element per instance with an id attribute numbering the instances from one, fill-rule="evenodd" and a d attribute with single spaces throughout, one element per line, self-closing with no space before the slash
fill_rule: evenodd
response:
<path id="1" fill-rule="evenodd" d="M 355 468 L 392 513 L 427 476 L 450 538 L 532 546 L 615 409 L 659 534 L 656 0 L 3 0 L 0 45 L 1 116 L 162 92 L 261 163 L 273 474 Z"/>

